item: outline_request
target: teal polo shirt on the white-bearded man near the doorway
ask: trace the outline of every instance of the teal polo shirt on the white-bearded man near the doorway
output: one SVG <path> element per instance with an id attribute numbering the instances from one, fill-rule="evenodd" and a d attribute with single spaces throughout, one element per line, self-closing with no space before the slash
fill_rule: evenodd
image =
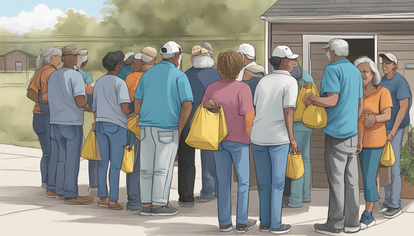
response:
<path id="1" fill-rule="evenodd" d="M 325 67 L 320 96 L 339 94 L 334 107 L 326 107 L 328 122 L 323 132 L 334 138 L 349 138 L 358 133 L 359 98 L 363 98 L 362 76 L 348 59 L 340 59 Z"/>

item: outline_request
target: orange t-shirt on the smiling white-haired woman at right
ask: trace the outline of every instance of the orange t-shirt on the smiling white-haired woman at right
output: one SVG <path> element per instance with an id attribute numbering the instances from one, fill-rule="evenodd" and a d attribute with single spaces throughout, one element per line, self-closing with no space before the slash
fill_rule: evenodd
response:
<path id="1" fill-rule="evenodd" d="M 363 148 L 382 148 L 387 141 L 387 130 L 385 129 L 385 122 L 375 123 L 371 128 L 363 126 L 364 119 L 369 114 L 379 115 L 385 108 L 392 107 L 391 93 L 387 88 L 378 86 L 375 93 L 368 97 L 363 96 L 363 116 L 359 119 L 359 129 L 364 129 L 362 147 Z"/>

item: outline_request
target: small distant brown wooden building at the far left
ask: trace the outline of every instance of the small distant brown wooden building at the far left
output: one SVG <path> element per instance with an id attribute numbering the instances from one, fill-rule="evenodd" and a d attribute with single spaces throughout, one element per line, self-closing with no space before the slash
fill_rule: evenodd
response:
<path id="1" fill-rule="evenodd" d="M 35 57 L 22 50 L 12 50 L 0 55 L 0 70 L 3 72 L 22 72 L 35 68 Z"/>

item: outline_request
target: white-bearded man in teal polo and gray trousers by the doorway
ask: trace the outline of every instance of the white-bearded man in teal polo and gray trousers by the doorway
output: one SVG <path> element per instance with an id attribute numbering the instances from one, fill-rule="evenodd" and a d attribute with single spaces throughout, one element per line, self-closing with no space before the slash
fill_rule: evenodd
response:
<path id="1" fill-rule="evenodd" d="M 356 154 L 358 119 L 363 113 L 361 72 L 349 60 L 348 43 L 332 39 L 324 46 L 329 65 L 325 67 L 320 97 L 304 96 L 306 106 L 315 103 L 325 107 L 328 122 L 325 136 L 325 170 L 330 186 L 328 219 L 315 224 L 320 234 L 337 235 L 359 231 L 359 186 Z"/>

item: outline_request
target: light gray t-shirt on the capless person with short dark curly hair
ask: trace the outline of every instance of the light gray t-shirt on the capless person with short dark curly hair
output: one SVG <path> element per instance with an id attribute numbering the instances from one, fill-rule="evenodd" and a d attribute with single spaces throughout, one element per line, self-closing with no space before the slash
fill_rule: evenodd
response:
<path id="1" fill-rule="evenodd" d="M 125 81 L 115 75 L 104 75 L 94 86 L 96 122 L 109 122 L 127 129 L 127 116 L 122 112 L 121 103 L 130 103 L 128 87 Z"/>

